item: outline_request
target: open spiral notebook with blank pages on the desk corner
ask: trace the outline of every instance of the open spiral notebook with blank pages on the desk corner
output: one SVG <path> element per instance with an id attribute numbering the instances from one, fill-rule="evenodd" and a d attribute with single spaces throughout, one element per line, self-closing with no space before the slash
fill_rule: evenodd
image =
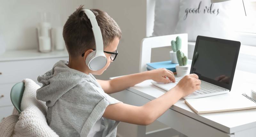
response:
<path id="1" fill-rule="evenodd" d="M 256 100 L 246 94 L 186 99 L 185 103 L 196 114 L 256 110 Z"/>

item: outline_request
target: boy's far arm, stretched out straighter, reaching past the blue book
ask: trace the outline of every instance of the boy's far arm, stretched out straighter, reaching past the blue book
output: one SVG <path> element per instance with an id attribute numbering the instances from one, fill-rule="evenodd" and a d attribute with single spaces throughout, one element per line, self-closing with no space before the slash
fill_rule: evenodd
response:
<path id="1" fill-rule="evenodd" d="M 168 77 L 169 79 L 166 79 L 165 77 Z M 105 93 L 111 94 L 111 93 L 125 90 L 129 87 L 132 87 L 148 79 L 152 79 L 156 82 L 164 82 L 164 83 L 175 82 L 175 78 L 172 71 L 167 70 L 165 68 L 121 76 L 111 80 L 97 79 L 97 82 L 100 83 Z"/>

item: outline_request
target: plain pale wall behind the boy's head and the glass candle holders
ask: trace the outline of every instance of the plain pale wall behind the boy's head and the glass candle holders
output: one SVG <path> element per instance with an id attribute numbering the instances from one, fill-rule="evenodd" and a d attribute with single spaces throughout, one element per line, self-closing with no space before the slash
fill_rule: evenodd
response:
<path id="1" fill-rule="evenodd" d="M 0 37 L 6 50 L 36 49 L 36 26 L 40 21 L 38 12 L 63 14 L 63 24 L 80 4 L 85 8 L 106 11 L 123 32 L 118 46 L 118 57 L 100 79 L 137 73 L 139 71 L 140 41 L 147 34 L 147 1 L 119 0 L 1 0 Z M 149 5 L 154 4 L 148 3 Z M 151 6 L 152 7 L 152 6 Z M 153 6 L 154 7 L 154 6 Z M 154 11 L 154 9 L 151 9 Z M 154 18 L 150 18 L 152 20 Z M 148 25 L 152 31 L 152 23 Z M 151 32 L 152 33 L 152 32 Z M 154 53 L 154 52 L 152 52 Z M 154 57 L 154 55 L 152 54 Z"/>

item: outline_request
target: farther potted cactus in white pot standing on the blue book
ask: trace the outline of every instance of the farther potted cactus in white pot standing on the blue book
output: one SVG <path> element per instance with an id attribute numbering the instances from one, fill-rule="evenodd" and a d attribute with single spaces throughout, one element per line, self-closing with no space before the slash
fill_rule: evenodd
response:
<path id="1" fill-rule="evenodd" d="M 176 41 L 171 41 L 172 51 L 170 51 L 172 63 L 178 63 L 176 52 L 181 48 L 181 39 L 179 36 L 176 37 Z"/>

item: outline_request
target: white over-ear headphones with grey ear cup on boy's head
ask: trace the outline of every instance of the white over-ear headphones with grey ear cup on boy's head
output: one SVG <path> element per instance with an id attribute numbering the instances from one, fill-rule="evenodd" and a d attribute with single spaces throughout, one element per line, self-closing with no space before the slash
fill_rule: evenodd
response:
<path id="1" fill-rule="evenodd" d="M 96 17 L 93 14 L 91 10 L 83 10 L 85 12 L 85 15 L 89 18 L 91 24 L 92 24 L 92 32 L 94 35 L 95 40 L 95 47 L 96 51 L 92 51 L 90 54 L 87 55 L 85 59 L 86 65 L 91 70 L 100 70 L 107 64 L 107 57 L 105 56 L 103 52 L 103 40 L 102 35 L 100 31 L 100 27 L 97 23 Z"/>

